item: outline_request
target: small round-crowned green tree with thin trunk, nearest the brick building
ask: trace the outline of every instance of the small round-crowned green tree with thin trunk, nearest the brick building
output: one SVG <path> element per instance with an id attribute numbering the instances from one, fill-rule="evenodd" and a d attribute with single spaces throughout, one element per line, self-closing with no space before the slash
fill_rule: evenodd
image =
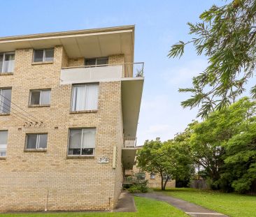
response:
<path id="1" fill-rule="evenodd" d="M 173 140 L 161 142 L 156 140 L 145 141 L 142 149 L 138 150 L 138 167 L 146 172 L 159 174 L 161 177 L 161 188 L 165 190 L 166 183 L 170 178 L 182 179 L 187 174 L 190 164 L 189 149 L 183 144 Z"/>

